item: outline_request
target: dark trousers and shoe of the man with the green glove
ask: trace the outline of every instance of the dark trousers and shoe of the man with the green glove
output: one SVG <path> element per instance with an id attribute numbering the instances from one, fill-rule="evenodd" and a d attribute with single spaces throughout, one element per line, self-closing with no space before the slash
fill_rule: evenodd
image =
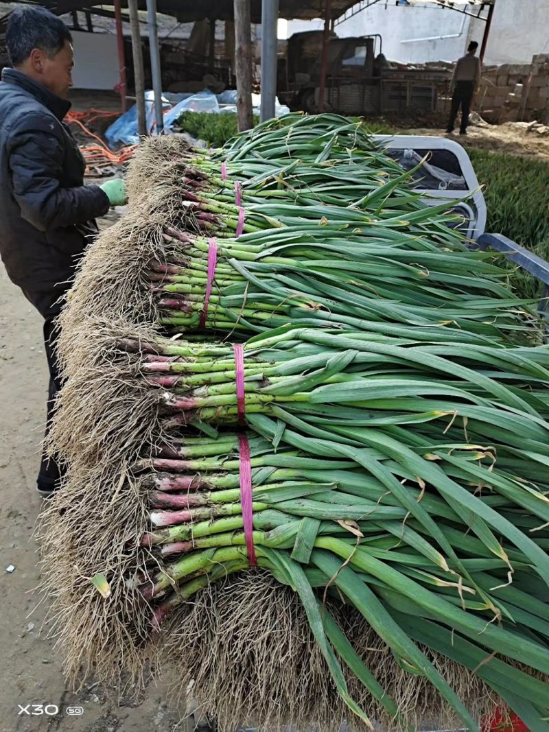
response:
<path id="1" fill-rule="evenodd" d="M 59 297 L 63 296 L 66 291 L 66 286 L 56 288 L 55 291 L 50 293 L 32 293 L 23 290 L 23 294 L 30 300 L 44 318 L 44 346 L 46 360 L 48 362 L 48 371 L 50 373 L 48 402 L 46 405 L 45 437 L 48 436 L 51 427 L 56 395 L 61 389 L 61 376 L 59 375 L 59 365 L 56 357 L 57 337 L 59 336 L 59 329 L 56 326 L 56 318 L 59 315 L 61 307 L 59 304 Z M 63 469 L 59 467 L 57 460 L 54 458 L 48 458 L 45 449 L 42 449 L 42 458 L 40 460 L 40 469 L 37 477 L 37 487 L 40 490 L 56 490 L 61 484 L 62 474 Z"/>

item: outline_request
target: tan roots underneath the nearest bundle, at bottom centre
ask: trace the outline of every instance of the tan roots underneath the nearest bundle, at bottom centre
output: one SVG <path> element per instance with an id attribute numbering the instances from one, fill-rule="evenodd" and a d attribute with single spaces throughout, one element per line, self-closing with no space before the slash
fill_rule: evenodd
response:
<path id="1" fill-rule="evenodd" d="M 438 728 L 460 727 L 432 685 L 403 671 L 354 608 L 329 599 L 326 609 L 402 710 L 399 725 L 344 668 L 351 697 L 371 720 L 387 730 L 419 728 L 425 720 L 444 725 Z M 163 659 L 176 679 L 172 700 L 180 701 L 192 681 L 201 715 L 215 719 L 220 732 L 236 725 L 328 732 L 343 722 L 357 732 L 367 729 L 337 695 L 299 597 L 269 572 L 250 570 L 209 586 L 173 614 L 163 636 Z M 496 695 L 474 673 L 429 649 L 422 651 L 477 719 L 493 713 Z"/>

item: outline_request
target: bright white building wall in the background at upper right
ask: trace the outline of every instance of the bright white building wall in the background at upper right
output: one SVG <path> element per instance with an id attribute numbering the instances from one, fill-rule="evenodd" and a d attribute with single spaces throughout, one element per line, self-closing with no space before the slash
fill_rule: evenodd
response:
<path id="1" fill-rule="evenodd" d="M 322 27 L 321 20 L 291 20 L 288 37 Z M 455 61 L 469 40 L 482 42 L 484 29 L 482 20 L 428 1 L 397 6 L 395 0 L 381 0 L 335 26 L 340 37 L 381 34 L 386 58 L 401 63 Z M 549 52 L 549 0 L 496 0 L 485 63 L 523 64 L 544 52 Z"/>

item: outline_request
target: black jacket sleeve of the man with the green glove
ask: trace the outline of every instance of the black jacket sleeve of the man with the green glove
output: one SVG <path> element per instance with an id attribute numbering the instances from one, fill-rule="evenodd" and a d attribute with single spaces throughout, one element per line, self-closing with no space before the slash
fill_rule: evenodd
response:
<path id="1" fill-rule="evenodd" d="M 39 231 L 83 224 L 109 208 L 97 185 L 61 187 L 63 134 L 56 120 L 30 113 L 10 135 L 13 194 L 23 219 Z"/>

